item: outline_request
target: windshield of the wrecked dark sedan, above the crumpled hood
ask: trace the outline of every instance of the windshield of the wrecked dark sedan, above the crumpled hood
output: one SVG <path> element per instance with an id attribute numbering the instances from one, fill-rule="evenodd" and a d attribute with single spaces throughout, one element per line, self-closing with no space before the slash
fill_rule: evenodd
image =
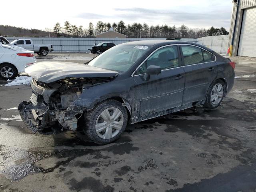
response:
<path id="1" fill-rule="evenodd" d="M 148 50 L 148 46 L 120 44 L 100 54 L 90 66 L 126 72 Z"/>

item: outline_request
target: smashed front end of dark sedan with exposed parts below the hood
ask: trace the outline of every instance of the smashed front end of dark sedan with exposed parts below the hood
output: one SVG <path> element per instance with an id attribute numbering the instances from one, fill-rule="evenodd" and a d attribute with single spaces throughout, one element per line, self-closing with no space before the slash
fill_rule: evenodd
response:
<path id="1" fill-rule="evenodd" d="M 86 109 L 74 105 L 74 101 L 86 88 L 106 81 L 108 80 L 101 78 L 66 78 L 46 84 L 33 79 L 30 101 L 21 102 L 18 110 L 22 120 L 33 133 L 75 131 L 78 119 Z"/>

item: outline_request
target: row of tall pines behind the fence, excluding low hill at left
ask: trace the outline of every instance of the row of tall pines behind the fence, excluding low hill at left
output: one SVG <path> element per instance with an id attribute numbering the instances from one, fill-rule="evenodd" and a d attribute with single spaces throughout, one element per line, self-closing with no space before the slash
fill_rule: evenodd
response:
<path id="1" fill-rule="evenodd" d="M 53 31 L 56 36 L 60 37 L 95 37 L 97 34 L 106 32 L 108 30 L 114 30 L 121 34 L 125 34 L 128 38 L 200 38 L 204 36 L 216 36 L 227 35 L 228 31 L 224 27 L 214 28 L 213 26 L 206 30 L 205 28 L 188 28 L 184 24 L 180 27 L 166 25 L 149 26 L 144 23 L 133 23 L 125 25 L 124 21 L 118 23 L 102 22 L 98 21 L 95 28 L 92 22 L 89 22 L 88 29 L 83 26 L 77 27 L 70 24 L 70 22 L 64 22 L 64 27 L 61 27 L 60 23 L 56 23 Z"/>

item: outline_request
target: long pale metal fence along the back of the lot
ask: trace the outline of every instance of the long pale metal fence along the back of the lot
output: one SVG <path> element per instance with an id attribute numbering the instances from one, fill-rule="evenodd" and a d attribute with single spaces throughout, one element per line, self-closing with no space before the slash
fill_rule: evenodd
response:
<path id="1" fill-rule="evenodd" d="M 22 37 L 8 37 L 10 42 L 15 39 L 24 39 Z M 72 51 L 84 52 L 96 43 L 112 42 L 114 44 L 121 44 L 130 41 L 140 40 L 161 40 L 166 38 L 29 38 L 34 44 L 52 44 L 54 51 Z M 181 39 L 182 41 L 195 42 L 211 48 L 218 53 L 226 53 L 228 49 L 228 36 L 209 36 L 199 39 Z"/>

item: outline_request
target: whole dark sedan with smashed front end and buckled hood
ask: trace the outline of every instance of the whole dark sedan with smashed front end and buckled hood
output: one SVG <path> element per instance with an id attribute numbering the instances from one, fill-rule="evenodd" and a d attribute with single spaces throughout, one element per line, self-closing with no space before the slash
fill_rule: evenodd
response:
<path id="1" fill-rule="evenodd" d="M 18 110 L 32 132 L 82 128 L 93 142 L 107 144 L 127 123 L 193 106 L 216 108 L 234 84 L 234 67 L 230 59 L 192 42 L 128 42 L 85 65 L 26 67 L 33 94 Z"/>

